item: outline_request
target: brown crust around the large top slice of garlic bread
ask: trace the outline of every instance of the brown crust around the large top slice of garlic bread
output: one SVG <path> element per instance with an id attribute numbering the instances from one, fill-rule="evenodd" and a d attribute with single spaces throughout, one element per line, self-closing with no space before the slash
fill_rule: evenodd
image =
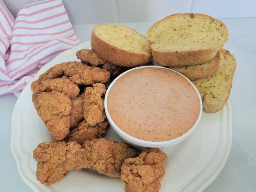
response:
<path id="1" fill-rule="evenodd" d="M 220 42 L 219 44 L 216 44 L 214 47 L 208 48 L 208 49 L 200 49 L 200 50 L 176 50 L 176 51 L 161 51 L 161 50 L 156 50 L 154 47 L 154 40 L 150 39 L 152 37 L 149 37 L 148 34 L 151 33 L 151 30 L 154 29 L 157 25 L 159 25 L 160 22 L 163 22 L 164 20 L 167 20 L 168 18 L 175 16 L 175 15 L 180 15 L 180 16 L 187 16 L 190 15 L 191 18 L 193 18 L 195 15 L 197 16 L 203 16 L 203 17 L 208 17 L 212 21 L 217 21 L 220 23 L 220 25 L 224 28 L 225 30 L 225 36 L 223 36 L 223 42 Z M 220 20 L 217 20 L 211 16 L 204 15 L 204 14 L 193 14 L 193 13 L 178 13 L 178 14 L 173 14 L 170 16 L 165 17 L 164 19 L 156 22 L 147 32 L 146 38 L 151 44 L 151 49 L 152 49 L 152 55 L 154 61 L 163 66 L 184 66 L 184 65 L 197 65 L 200 63 L 205 63 L 207 61 L 212 60 L 217 52 L 224 46 L 224 44 L 228 41 L 228 29 L 222 23 Z M 156 40 L 157 41 L 157 40 Z M 175 46 L 175 45 L 174 45 Z"/>

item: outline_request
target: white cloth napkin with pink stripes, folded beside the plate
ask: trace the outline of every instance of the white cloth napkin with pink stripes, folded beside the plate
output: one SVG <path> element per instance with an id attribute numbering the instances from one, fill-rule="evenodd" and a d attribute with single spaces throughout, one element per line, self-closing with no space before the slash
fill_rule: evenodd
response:
<path id="1" fill-rule="evenodd" d="M 0 0 L 0 96 L 18 97 L 44 64 L 78 44 L 61 0 L 28 4 L 16 19 Z"/>

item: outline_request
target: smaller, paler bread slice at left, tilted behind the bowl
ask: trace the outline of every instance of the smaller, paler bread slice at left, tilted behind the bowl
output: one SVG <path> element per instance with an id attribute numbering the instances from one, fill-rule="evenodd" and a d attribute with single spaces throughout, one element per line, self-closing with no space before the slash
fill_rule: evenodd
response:
<path id="1" fill-rule="evenodd" d="M 124 25 L 97 25 L 92 31 L 91 45 L 100 58 L 118 66 L 137 67 L 152 60 L 146 38 Z"/>

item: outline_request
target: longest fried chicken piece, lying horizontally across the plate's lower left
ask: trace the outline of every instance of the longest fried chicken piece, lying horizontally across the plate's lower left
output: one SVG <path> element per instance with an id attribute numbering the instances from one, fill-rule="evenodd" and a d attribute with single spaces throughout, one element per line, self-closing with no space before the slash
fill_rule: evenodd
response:
<path id="1" fill-rule="evenodd" d="M 53 141 L 40 143 L 33 152 L 37 161 L 36 178 L 51 185 L 65 177 L 72 169 L 90 168 L 109 177 L 120 177 L 124 159 L 134 157 L 127 144 L 105 138 L 85 141 Z"/>

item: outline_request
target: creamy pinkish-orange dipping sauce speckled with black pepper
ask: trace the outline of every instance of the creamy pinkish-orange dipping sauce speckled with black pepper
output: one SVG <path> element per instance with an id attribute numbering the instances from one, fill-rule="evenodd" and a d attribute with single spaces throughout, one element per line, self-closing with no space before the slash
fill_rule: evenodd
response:
<path id="1" fill-rule="evenodd" d="M 193 86 L 165 68 L 127 72 L 108 92 L 108 112 L 125 133 L 147 141 L 172 140 L 188 132 L 200 113 Z"/>

